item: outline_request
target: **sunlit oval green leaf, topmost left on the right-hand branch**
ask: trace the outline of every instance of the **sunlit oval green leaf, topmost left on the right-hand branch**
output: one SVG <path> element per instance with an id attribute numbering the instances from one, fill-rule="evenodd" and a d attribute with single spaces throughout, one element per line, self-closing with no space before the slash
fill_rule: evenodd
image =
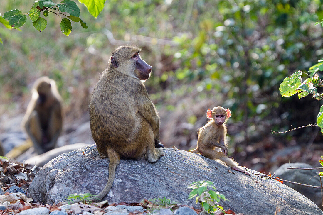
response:
<path id="1" fill-rule="evenodd" d="M 279 92 L 282 96 L 292 96 L 297 93 L 296 88 L 301 84 L 302 72 L 298 71 L 284 79 L 279 86 Z"/>

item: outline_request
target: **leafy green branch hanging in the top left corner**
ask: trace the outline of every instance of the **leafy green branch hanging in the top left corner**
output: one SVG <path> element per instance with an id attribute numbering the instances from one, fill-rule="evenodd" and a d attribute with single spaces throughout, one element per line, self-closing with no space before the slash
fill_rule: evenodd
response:
<path id="1" fill-rule="evenodd" d="M 52 0 L 39 0 L 34 3 L 27 14 L 23 14 L 20 10 L 14 9 L 5 12 L 1 18 L 9 20 L 10 27 L 19 28 L 26 23 L 28 15 L 36 30 L 41 32 L 45 30 L 47 26 L 47 20 L 40 17 L 41 11 L 44 11 L 44 17 L 47 17 L 49 12 L 51 12 L 62 18 L 60 28 L 62 33 L 66 36 L 68 36 L 72 31 L 72 23 L 67 18 L 63 18 L 61 15 L 68 17 L 74 22 L 80 22 L 83 28 L 88 28 L 85 22 L 79 17 L 80 9 L 78 8 L 78 5 L 71 0 L 63 0 L 59 4 L 53 2 Z M 64 12 L 70 15 L 68 16 Z M 0 19 L 0 22 L 8 27 L 7 23 L 5 23 L 2 19 Z"/>

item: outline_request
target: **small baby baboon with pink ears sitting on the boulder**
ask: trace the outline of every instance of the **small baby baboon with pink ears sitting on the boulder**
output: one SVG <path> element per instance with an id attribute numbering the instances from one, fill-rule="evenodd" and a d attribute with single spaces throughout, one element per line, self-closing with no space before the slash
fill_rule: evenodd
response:
<path id="1" fill-rule="evenodd" d="M 219 159 L 226 163 L 231 169 L 250 175 L 243 169 L 238 167 L 238 163 L 227 157 L 228 148 L 226 142 L 225 120 L 231 117 L 229 108 L 215 107 L 207 110 L 206 113 L 209 122 L 198 131 L 197 146 L 189 152 L 200 153 L 209 159 Z M 216 150 L 219 147 L 223 151 Z"/>

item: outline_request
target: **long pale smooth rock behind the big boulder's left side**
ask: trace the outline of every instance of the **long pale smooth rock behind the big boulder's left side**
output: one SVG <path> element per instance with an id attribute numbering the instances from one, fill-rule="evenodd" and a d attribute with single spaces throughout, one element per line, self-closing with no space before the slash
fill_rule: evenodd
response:
<path id="1" fill-rule="evenodd" d="M 54 148 L 52 150 L 49 150 L 41 155 L 34 156 L 32 158 L 29 158 L 25 160 L 25 163 L 30 164 L 30 165 L 36 165 L 38 167 L 42 167 L 45 164 L 48 163 L 51 159 L 56 158 L 57 156 L 71 152 L 74 150 L 77 150 L 79 148 L 83 148 L 84 146 L 88 146 L 89 144 L 87 143 L 75 143 L 75 144 L 70 144 L 66 146 L 62 146 L 59 148 Z"/>

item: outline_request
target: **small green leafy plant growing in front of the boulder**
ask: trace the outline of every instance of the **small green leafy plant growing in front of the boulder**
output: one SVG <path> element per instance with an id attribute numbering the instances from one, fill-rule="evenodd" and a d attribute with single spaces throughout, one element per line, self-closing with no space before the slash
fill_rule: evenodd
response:
<path id="1" fill-rule="evenodd" d="M 219 192 L 216 192 L 214 183 L 212 181 L 196 181 L 193 182 L 188 188 L 192 189 L 188 199 L 193 199 L 194 197 L 196 197 L 196 204 L 198 203 L 198 200 L 203 194 L 203 192 L 207 192 L 207 194 L 202 195 L 203 199 L 201 202 L 201 206 L 208 213 L 214 214 L 216 208 L 221 209 L 225 213 L 223 207 L 219 205 L 218 202 L 220 202 L 220 199 L 224 201 L 227 199 L 223 194 L 219 194 Z M 208 188 L 212 188 L 214 190 L 207 190 Z"/>

